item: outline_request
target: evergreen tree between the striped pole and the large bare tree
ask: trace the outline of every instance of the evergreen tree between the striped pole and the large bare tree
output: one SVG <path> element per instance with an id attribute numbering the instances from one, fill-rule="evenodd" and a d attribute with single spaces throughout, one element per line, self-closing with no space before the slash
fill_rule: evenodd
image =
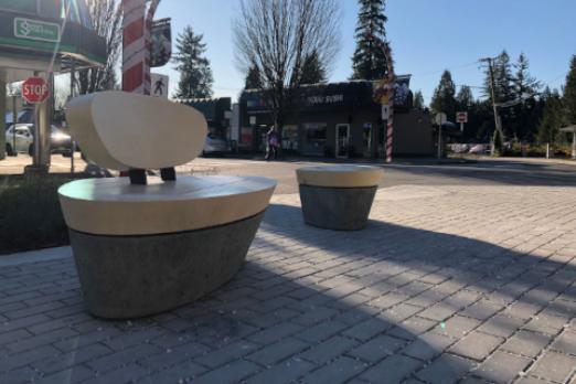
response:
<path id="1" fill-rule="evenodd" d="M 204 56 L 206 44 L 202 42 L 202 34 L 194 34 L 191 26 L 186 26 L 177 39 L 177 54 L 174 63 L 180 71 L 177 98 L 207 98 L 212 97 L 212 70 Z"/>

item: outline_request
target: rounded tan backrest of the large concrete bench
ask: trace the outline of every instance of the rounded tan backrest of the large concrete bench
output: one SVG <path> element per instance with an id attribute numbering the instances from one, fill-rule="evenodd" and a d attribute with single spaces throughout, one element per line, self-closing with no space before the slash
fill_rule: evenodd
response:
<path id="1" fill-rule="evenodd" d="M 66 120 L 88 159 L 119 171 L 184 164 L 202 152 L 207 131 L 192 107 L 124 92 L 76 97 Z"/>

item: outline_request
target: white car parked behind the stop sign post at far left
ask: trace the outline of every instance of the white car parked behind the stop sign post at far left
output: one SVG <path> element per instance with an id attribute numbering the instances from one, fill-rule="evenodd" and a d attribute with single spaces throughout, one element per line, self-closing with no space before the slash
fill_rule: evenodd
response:
<path id="1" fill-rule="evenodd" d="M 57 127 L 52 126 L 50 148 L 52 153 L 70 156 L 72 153 L 72 138 Z M 32 156 L 34 153 L 34 125 L 18 124 L 8 128 L 6 131 L 6 152 L 8 156 L 15 156 L 17 153 Z"/>

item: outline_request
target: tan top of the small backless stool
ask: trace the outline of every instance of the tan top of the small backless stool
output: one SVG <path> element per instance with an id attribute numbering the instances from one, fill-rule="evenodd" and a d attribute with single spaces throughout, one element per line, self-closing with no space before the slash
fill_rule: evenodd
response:
<path id="1" fill-rule="evenodd" d="M 377 167 L 320 166 L 296 170 L 299 184 L 328 188 L 376 186 L 383 177 Z"/>

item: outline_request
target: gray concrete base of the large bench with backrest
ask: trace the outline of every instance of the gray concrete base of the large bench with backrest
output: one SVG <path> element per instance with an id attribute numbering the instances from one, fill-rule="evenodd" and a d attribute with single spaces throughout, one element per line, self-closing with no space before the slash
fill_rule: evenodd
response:
<path id="1" fill-rule="evenodd" d="M 70 231 L 87 309 L 100 318 L 150 316 L 192 302 L 242 267 L 264 217 L 153 236 Z"/>

